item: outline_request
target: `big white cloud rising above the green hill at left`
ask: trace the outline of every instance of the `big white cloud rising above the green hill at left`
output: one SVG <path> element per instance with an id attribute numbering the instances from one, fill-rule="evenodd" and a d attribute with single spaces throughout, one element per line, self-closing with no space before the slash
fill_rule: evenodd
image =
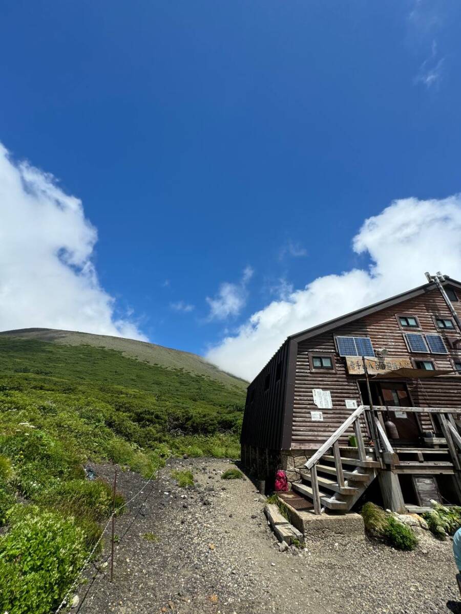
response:
<path id="1" fill-rule="evenodd" d="M 66 328 L 147 340 L 115 316 L 92 262 L 97 231 L 52 175 L 0 144 L 0 329 Z"/>

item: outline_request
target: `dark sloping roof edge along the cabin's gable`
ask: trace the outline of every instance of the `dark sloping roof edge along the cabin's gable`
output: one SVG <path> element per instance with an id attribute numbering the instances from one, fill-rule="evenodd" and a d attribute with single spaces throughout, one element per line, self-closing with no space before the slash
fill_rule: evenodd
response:
<path id="1" fill-rule="evenodd" d="M 461 290 L 461 282 L 456 281 L 456 279 L 452 279 L 447 275 L 445 275 L 445 278 L 446 281 L 442 282 L 442 286 L 454 286 L 455 288 Z M 435 282 L 428 282 L 423 286 L 418 286 L 412 290 L 407 290 L 406 292 L 397 294 L 395 297 L 386 298 L 384 301 L 379 301 L 373 305 L 368 305 L 368 307 L 363 307 L 361 309 L 357 309 L 357 311 L 352 311 L 345 316 L 335 317 L 333 320 L 323 322 L 323 324 L 318 324 L 312 328 L 306 328 L 306 330 L 302 330 L 299 333 L 288 336 L 288 339 L 293 339 L 299 342 L 316 335 L 321 335 L 322 333 L 328 333 L 329 330 L 334 330 L 334 328 L 339 328 L 345 324 L 350 324 L 350 322 L 355 322 L 361 317 L 369 316 L 372 313 L 376 313 L 376 311 L 381 311 L 382 309 L 392 307 L 393 305 L 398 305 L 398 303 L 403 303 L 403 301 L 408 301 L 410 298 L 418 297 L 426 292 L 431 292 L 432 290 L 436 289 L 437 286 Z"/>

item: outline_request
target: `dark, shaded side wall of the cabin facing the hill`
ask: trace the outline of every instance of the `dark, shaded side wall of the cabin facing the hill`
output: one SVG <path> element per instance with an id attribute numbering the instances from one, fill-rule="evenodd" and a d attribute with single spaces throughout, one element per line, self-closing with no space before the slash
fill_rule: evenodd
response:
<path id="1" fill-rule="evenodd" d="M 248 386 L 240 441 L 260 448 L 281 449 L 285 389 L 288 363 L 288 340 L 278 349 L 266 367 Z M 280 364 L 280 379 L 276 379 Z M 269 376 L 269 389 L 264 390 Z"/>

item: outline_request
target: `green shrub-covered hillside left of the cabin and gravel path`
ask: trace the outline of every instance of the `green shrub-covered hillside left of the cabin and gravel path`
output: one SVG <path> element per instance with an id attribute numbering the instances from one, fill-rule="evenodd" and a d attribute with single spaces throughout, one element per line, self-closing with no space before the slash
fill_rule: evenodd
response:
<path id="1" fill-rule="evenodd" d="M 95 344 L 0 335 L 0 612 L 49 613 L 98 539 L 112 502 L 88 459 L 149 476 L 171 453 L 238 456 L 242 381 Z"/>

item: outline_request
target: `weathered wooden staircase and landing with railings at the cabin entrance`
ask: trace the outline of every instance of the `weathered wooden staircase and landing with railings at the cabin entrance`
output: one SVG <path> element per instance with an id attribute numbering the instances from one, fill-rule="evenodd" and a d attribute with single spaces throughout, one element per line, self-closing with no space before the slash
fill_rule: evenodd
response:
<path id="1" fill-rule="evenodd" d="M 406 407 L 406 412 L 436 414 L 444 437 L 437 440 L 437 448 L 393 448 L 385 432 L 382 414 L 384 411 L 400 409 L 361 405 L 313 453 L 301 472 L 301 479 L 292 486 L 294 491 L 312 501 L 315 514 L 325 510 L 339 513 L 351 510 L 381 471 L 387 472 L 386 476 L 398 473 L 423 476 L 454 474 L 460 486 L 461 498 L 461 435 L 454 420 L 454 416 L 461 418 L 461 410 Z M 361 419 L 365 420 L 367 430 L 374 441 L 368 448 L 364 445 Z M 355 432 L 357 448 L 341 448 L 339 438 L 351 428 Z M 400 492 L 398 480 L 395 488 Z M 403 502 L 403 499 L 401 501 Z M 402 505 L 398 507 L 401 508 Z M 408 508 L 408 505 L 406 507 Z"/>

